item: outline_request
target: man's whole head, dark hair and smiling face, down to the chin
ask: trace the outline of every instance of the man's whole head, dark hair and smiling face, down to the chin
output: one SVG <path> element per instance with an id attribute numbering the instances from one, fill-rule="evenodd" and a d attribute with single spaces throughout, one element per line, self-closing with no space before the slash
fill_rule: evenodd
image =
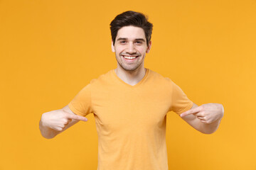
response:
<path id="1" fill-rule="evenodd" d="M 117 68 L 130 72 L 143 69 L 151 48 L 152 24 L 142 13 L 127 11 L 114 18 L 110 26 Z"/>

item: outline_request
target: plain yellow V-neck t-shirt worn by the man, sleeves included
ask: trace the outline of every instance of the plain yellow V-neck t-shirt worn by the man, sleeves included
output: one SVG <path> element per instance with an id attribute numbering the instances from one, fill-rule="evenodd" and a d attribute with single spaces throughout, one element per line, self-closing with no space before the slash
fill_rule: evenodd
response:
<path id="1" fill-rule="evenodd" d="M 92 79 L 68 106 L 75 114 L 95 116 L 98 170 L 167 170 L 166 113 L 181 114 L 193 102 L 150 69 L 134 86 L 112 69 Z"/>

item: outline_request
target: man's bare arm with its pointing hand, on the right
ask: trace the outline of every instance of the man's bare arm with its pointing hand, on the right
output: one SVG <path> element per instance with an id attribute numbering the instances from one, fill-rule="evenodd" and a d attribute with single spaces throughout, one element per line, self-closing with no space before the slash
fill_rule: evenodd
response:
<path id="1" fill-rule="evenodd" d="M 221 104 L 208 103 L 197 106 L 193 103 L 190 110 L 181 114 L 181 118 L 196 130 L 211 134 L 218 129 L 223 115 L 224 108 Z"/>

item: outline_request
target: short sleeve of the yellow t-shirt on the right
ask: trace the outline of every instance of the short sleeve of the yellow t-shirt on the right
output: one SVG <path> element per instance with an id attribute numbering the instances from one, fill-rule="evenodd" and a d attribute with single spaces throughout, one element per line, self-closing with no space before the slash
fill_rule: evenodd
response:
<path id="1" fill-rule="evenodd" d="M 188 111 L 193 106 L 193 101 L 191 101 L 182 89 L 172 82 L 172 93 L 171 93 L 171 111 L 174 111 L 178 115 Z"/>

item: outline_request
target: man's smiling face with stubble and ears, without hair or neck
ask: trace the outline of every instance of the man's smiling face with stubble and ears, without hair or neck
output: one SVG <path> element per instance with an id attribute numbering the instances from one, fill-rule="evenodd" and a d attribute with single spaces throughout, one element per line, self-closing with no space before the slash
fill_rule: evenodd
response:
<path id="1" fill-rule="evenodd" d="M 117 64 L 126 71 L 134 71 L 144 67 L 144 58 L 151 48 L 146 45 L 144 30 L 134 26 L 124 26 L 117 32 L 117 38 L 112 42 L 112 52 L 115 52 Z"/>

